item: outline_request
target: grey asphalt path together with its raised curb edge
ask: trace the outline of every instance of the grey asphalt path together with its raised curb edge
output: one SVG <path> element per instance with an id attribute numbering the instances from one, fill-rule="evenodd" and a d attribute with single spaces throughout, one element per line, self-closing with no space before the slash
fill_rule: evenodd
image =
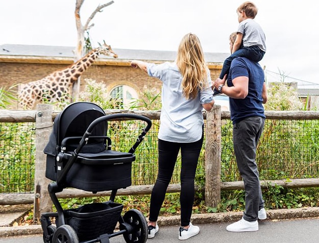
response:
<path id="1" fill-rule="evenodd" d="M 267 220 L 259 221 L 255 232 L 228 232 L 227 225 L 239 220 L 242 212 L 193 214 L 192 223 L 200 233 L 185 242 L 319 242 L 319 208 L 268 210 Z M 160 217 L 160 230 L 150 243 L 181 242 L 178 240 L 179 216 Z M 39 243 L 42 229 L 39 225 L 0 227 L 0 242 Z M 110 243 L 125 243 L 122 235 L 110 238 Z"/>

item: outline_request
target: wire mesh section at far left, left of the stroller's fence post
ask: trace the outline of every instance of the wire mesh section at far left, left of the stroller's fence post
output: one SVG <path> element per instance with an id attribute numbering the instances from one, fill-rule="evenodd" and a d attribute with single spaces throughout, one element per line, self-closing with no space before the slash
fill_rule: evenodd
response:
<path id="1" fill-rule="evenodd" d="M 35 123 L 0 123 L 0 193 L 34 191 Z"/>

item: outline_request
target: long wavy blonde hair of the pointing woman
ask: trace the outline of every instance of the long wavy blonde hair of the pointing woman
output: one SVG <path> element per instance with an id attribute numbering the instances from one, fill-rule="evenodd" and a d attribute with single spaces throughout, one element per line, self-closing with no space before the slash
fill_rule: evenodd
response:
<path id="1" fill-rule="evenodd" d="M 183 76 L 182 90 L 187 100 L 194 99 L 205 86 L 207 77 L 204 52 L 199 38 L 186 34 L 177 51 L 176 63 Z"/>

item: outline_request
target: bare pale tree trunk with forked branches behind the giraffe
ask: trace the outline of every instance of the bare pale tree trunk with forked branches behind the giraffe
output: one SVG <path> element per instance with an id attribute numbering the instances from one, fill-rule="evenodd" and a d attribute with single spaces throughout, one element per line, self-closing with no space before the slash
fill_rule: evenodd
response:
<path id="1" fill-rule="evenodd" d="M 84 33 L 94 26 L 94 23 L 90 23 L 91 20 L 94 18 L 96 13 L 102 12 L 102 9 L 113 4 L 114 1 L 97 6 L 96 9 L 90 15 L 90 17 L 86 20 L 86 23 L 84 25 L 82 25 L 81 16 L 80 16 L 80 10 L 83 3 L 84 3 L 84 0 L 77 0 L 77 3 L 76 3 L 75 17 L 76 17 L 76 26 L 78 31 L 78 43 L 77 43 L 77 47 L 75 51 L 75 61 L 80 60 L 84 56 L 84 42 L 85 42 Z M 79 77 L 78 80 L 74 82 L 72 86 L 73 100 L 77 100 L 79 97 L 80 78 L 81 77 Z"/>

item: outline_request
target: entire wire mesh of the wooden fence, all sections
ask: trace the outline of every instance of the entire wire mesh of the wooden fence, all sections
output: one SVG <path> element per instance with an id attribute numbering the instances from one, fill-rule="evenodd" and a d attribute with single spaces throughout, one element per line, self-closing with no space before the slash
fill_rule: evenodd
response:
<path id="1" fill-rule="evenodd" d="M 132 184 L 154 184 L 157 176 L 157 134 L 159 120 L 137 148 L 132 164 Z M 145 126 L 136 120 L 112 121 L 108 136 L 112 149 L 129 151 Z M 268 120 L 257 148 L 260 179 L 301 179 L 319 177 L 319 120 Z M 204 136 L 205 144 L 205 136 Z M 0 123 L 0 193 L 34 191 L 35 124 Z M 178 157 L 172 184 L 180 183 Z M 205 145 L 200 155 L 197 180 L 205 179 Z M 241 180 L 232 144 L 232 123 L 222 120 L 221 180 Z"/>

